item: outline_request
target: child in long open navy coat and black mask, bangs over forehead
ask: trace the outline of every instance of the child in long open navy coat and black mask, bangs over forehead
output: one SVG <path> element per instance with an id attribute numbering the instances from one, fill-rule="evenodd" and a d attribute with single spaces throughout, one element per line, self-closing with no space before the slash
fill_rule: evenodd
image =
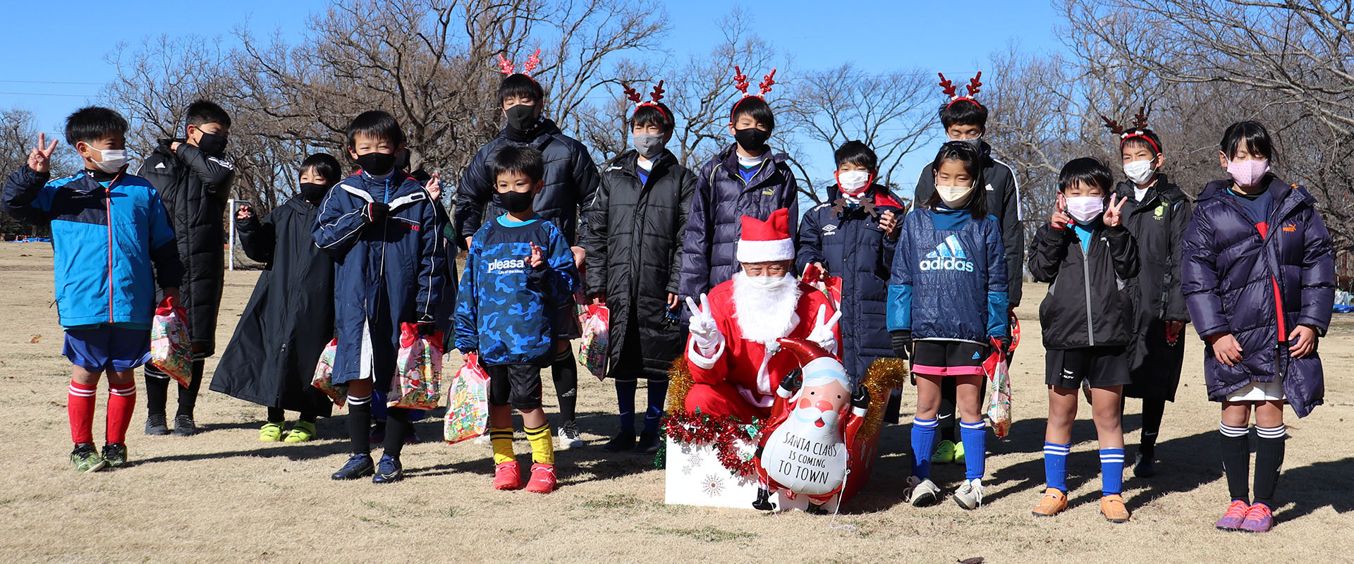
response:
<path id="1" fill-rule="evenodd" d="M 372 472 L 378 484 L 403 477 L 399 452 L 413 430 L 409 410 L 389 410 L 385 453 L 372 468 L 367 437 L 372 390 L 390 390 L 402 323 L 417 323 L 424 335 L 433 333 L 445 284 L 441 222 L 422 185 L 395 168 L 403 146 L 403 130 L 393 115 L 357 115 L 348 126 L 348 156 L 362 170 L 329 189 L 311 233 L 334 258 L 333 383 L 348 384 L 352 456 L 334 480 Z"/>

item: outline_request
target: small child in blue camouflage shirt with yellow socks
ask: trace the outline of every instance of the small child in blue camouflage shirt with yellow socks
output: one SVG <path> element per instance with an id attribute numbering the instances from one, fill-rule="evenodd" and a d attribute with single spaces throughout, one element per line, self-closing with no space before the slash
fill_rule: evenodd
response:
<path id="1" fill-rule="evenodd" d="M 531 442 L 527 491 L 555 490 L 555 449 L 540 407 L 540 369 L 555 358 L 555 315 L 578 287 L 569 239 L 532 210 L 544 183 L 540 151 L 505 146 L 494 154 L 494 204 L 504 215 L 475 231 L 460 277 L 456 349 L 479 353 L 489 373 L 489 438 L 494 488 L 521 487 L 512 449 L 512 410 Z"/>

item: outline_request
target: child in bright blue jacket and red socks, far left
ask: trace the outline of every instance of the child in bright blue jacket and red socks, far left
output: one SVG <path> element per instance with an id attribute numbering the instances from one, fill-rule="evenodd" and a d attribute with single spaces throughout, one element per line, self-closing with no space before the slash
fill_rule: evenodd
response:
<path id="1" fill-rule="evenodd" d="M 66 142 L 84 164 L 77 174 L 51 177 L 57 142 L 28 151 L 28 162 L 4 185 L 4 211 L 51 226 L 53 268 L 62 353 L 70 360 L 66 417 L 80 472 L 127 463 L 127 425 L 137 404 L 134 369 L 150 358 L 156 284 L 179 299 L 183 265 L 160 195 L 126 173 L 127 120 L 108 108 L 80 108 L 66 118 Z M 108 373 L 108 426 L 100 454 L 93 446 L 93 403 Z"/>

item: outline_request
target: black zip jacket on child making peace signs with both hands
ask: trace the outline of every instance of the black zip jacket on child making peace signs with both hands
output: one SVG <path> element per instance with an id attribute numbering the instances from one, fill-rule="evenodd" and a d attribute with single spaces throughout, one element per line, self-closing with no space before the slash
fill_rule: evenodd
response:
<path id="1" fill-rule="evenodd" d="M 1124 226 L 1095 225 L 1090 250 L 1071 226 L 1044 225 L 1029 248 L 1029 272 L 1048 283 L 1039 304 L 1045 349 L 1125 346 L 1133 342 L 1137 243 Z"/>

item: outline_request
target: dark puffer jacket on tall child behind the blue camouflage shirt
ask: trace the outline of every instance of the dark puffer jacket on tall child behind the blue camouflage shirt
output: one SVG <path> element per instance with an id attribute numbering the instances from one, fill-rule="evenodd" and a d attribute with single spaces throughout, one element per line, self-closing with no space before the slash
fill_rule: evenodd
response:
<path id="1" fill-rule="evenodd" d="M 485 218 L 493 219 L 504 214 L 493 203 L 494 177 L 489 162 L 508 145 L 531 146 L 542 153 L 546 161 L 546 187 L 532 202 L 532 210 L 559 227 L 570 245 L 578 245 L 578 207 L 597 191 L 597 165 L 593 164 L 584 143 L 565 135 L 555 122 L 548 119 L 538 124 L 536 137 L 531 141 L 512 141 L 509 131 L 504 128 L 494 141 L 475 153 L 456 188 L 455 222 L 456 233 L 460 235 L 456 245 L 464 249 L 466 238 L 475 235 Z"/>

